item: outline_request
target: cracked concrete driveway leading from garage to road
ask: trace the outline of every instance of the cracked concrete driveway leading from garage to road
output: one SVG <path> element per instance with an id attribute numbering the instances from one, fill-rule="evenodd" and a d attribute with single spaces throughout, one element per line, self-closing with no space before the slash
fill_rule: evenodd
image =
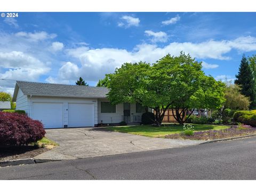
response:
<path id="1" fill-rule="evenodd" d="M 46 137 L 60 146 L 35 159 L 76 159 L 197 145 L 203 141 L 149 138 L 102 128 L 46 130 Z"/>

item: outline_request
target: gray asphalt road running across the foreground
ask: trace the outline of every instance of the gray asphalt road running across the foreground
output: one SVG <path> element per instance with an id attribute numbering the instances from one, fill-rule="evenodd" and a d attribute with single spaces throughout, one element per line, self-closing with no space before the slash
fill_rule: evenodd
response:
<path id="1" fill-rule="evenodd" d="M 0 179 L 256 179 L 256 137 L 0 167 Z"/>

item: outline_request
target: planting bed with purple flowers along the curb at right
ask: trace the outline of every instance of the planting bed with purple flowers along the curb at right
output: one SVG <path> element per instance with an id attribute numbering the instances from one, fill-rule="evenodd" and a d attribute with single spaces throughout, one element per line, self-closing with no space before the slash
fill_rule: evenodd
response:
<path id="1" fill-rule="evenodd" d="M 169 134 L 165 138 L 168 139 L 192 139 L 192 140 L 214 140 L 233 138 L 244 135 L 256 134 L 256 127 L 250 125 L 231 126 L 224 130 L 209 130 L 194 132 L 194 135 L 185 135 L 183 133 Z"/>

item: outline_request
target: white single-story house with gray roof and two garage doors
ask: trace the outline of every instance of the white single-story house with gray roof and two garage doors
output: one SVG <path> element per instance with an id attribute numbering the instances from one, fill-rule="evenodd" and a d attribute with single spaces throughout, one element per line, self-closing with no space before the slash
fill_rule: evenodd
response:
<path id="1" fill-rule="evenodd" d="M 17 81 L 13 101 L 17 110 L 25 110 L 45 128 L 141 122 L 145 107 L 139 103 L 111 105 L 108 91 L 105 87 Z"/>

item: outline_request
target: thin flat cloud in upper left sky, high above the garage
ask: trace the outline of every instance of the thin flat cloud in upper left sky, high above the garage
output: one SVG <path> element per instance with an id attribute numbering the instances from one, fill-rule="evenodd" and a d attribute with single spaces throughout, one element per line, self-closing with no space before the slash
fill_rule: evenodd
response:
<path id="1" fill-rule="evenodd" d="M 24 31 L 20 31 L 15 34 L 17 37 L 23 37 L 28 39 L 29 41 L 38 42 L 43 41 L 45 39 L 53 39 L 57 37 L 56 34 L 48 34 L 45 31 L 35 32 L 35 33 L 27 33 Z"/>

